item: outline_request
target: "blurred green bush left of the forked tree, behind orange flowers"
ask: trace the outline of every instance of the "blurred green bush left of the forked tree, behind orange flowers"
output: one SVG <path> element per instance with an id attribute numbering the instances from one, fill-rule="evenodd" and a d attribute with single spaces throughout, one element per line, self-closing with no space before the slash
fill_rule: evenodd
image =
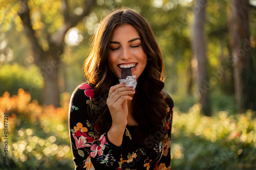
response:
<path id="1" fill-rule="evenodd" d="M 31 65 L 28 69 L 14 64 L 4 64 L 0 67 L 0 95 L 8 91 L 10 95 L 17 94 L 19 88 L 29 91 L 31 98 L 41 104 L 43 79 L 38 67 Z"/>

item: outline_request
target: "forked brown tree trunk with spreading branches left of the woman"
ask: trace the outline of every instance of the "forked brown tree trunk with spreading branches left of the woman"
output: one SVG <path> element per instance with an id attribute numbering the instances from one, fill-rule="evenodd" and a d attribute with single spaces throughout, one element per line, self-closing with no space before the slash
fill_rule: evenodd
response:
<path id="1" fill-rule="evenodd" d="M 69 5 L 67 1 L 62 1 L 62 14 L 64 18 L 63 25 L 59 30 L 50 35 L 48 33 L 48 46 L 49 50 L 44 51 L 38 43 L 38 37 L 35 36 L 35 31 L 32 28 L 32 22 L 30 18 L 30 9 L 28 7 L 27 0 L 20 0 L 21 10 L 18 13 L 20 19 L 23 21 L 24 31 L 27 35 L 35 64 L 40 68 L 42 78 L 44 78 L 44 94 L 43 102 L 46 105 L 54 105 L 59 107 L 59 87 L 58 87 L 58 66 L 59 66 L 59 55 L 63 50 L 63 42 L 66 33 L 69 29 L 76 26 L 77 23 L 87 16 L 95 4 L 95 0 L 84 0 L 83 12 L 79 16 L 71 16 L 69 14 Z M 47 29 L 46 29 L 47 30 Z M 44 38 L 44 37 L 42 37 Z"/>

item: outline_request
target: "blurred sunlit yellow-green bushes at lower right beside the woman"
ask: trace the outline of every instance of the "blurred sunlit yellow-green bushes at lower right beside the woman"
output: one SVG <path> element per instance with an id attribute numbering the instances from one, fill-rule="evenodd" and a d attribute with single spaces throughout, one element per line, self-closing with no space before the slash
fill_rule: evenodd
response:
<path id="1" fill-rule="evenodd" d="M 172 129 L 173 169 L 255 169 L 255 112 L 213 117 L 174 112 Z"/>

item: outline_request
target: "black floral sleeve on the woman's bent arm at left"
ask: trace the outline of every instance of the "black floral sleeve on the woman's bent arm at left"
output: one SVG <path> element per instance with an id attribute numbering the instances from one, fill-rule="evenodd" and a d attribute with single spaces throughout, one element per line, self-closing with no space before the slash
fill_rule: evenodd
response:
<path id="1" fill-rule="evenodd" d="M 78 86 L 71 96 L 69 132 L 75 169 L 116 169 L 119 166 L 121 147 L 112 144 L 105 133 L 94 133 L 97 127 L 90 122 L 89 114 L 98 110 L 97 103 L 93 89 L 86 83 Z"/>

